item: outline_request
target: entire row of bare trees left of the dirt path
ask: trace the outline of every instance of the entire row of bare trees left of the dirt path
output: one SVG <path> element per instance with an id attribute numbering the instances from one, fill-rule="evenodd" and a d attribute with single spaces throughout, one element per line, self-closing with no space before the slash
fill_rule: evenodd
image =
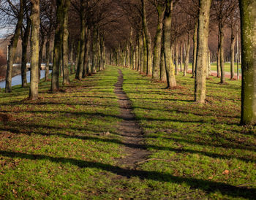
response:
<path id="1" fill-rule="evenodd" d="M 96 0 L 1 1 L 1 23 L 15 26 L 8 46 L 5 91 L 12 91 L 12 66 L 19 39 L 22 40 L 23 87 L 27 85 L 26 63 L 31 61 L 30 99 L 38 98 L 43 59 L 46 81 L 49 80 L 50 61 L 53 61 L 52 92 L 59 91 L 60 76 L 62 84 L 68 85 L 70 72 L 75 71 L 76 79 L 82 80 L 105 69 L 105 39 L 101 26 L 106 23 L 103 21 L 109 7 L 106 3 Z"/>

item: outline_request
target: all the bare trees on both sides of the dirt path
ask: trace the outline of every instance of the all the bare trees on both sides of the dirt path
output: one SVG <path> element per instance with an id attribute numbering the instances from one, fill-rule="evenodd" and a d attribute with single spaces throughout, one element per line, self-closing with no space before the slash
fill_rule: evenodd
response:
<path id="1" fill-rule="evenodd" d="M 186 75 L 192 58 L 195 101 L 203 104 L 212 60 L 217 61 L 220 83 L 225 83 L 227 33 L 230 34 L 231 79 L 235 76 L 234 58 L 239 51 L 236 52 L 235 46 L 239 45 L 241 21 L 241 123 L 255 123 L 255 4 L 252 0 L 3 0 L 1 20 L 15 24 L 9 47 L 6 92 L 11 91 L 12 62 L 20 38 L 23 86 L 26 86 L 27 48 L 31 46 L 31 99 L 38 96 L 39 66 L 45 48 L 46 73 L 53 57 L 53 92 L 59 91 L 60 75 L 63 85 L 69 84 L 69 63 L 75 63 L 75 77 L 81 80 L 97 69 L 104 69 L 106 60 L 129 66 L 154 80 L 166 80 L 168 88 L 175 88 L 176 74 L 181 71 L 178 69 L 184 61 Z M 211 39 L 214 34 L 217 42 Z"/>

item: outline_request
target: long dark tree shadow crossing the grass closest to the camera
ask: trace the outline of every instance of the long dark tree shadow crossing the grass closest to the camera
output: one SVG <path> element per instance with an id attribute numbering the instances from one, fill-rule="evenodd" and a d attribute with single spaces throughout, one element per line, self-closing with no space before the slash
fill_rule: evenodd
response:
<path id="1" fill-rule="evenodd" d="M 223 182 L 214 182 L 210 180 L 199 180 L 192 177 L 176 177 L 172 174 L 143 171 L 134 169 L 124 169 L 119 166 L 112 166 L 110 164 L 102 164 L 97 162 L 89 162 L 77 160 L 74 158 L 58 158 L 49 155 L 35 155 L 26 153 L 15 153 L 6 150 L 0 150 L 0 155 L 8 158 L 23 158 L 31 161 L 48 160 L 57 164 L 72 164 L 80 168 L 95 168 L 111 172 L 113 174 L 121 175 L 123 177 L 139 177 L 141 180 L 155 180 L 159 182 L 173 182 L 176 184 L 187 184 L 193 189 L 200 189 L 206 193 L 220 192 L 223 195 L 232 197 L 243 197 L 246 199 L 255 199 L 255 188 L 239 188 L 234 185 L 229 185 Z"/>

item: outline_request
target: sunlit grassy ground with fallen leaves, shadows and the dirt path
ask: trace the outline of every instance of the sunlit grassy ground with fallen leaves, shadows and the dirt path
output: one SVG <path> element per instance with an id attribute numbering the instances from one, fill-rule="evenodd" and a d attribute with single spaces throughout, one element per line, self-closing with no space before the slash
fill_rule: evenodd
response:
<path id="1" fill-rule="evenodd" d="M 0 93 L 0 199 L 255 199 L 256 128 L 239 126 L 241 82 L 178 87 L 108 66 L 38 101 Z M 61 81 L 61 80 L 60 80 Z"/>

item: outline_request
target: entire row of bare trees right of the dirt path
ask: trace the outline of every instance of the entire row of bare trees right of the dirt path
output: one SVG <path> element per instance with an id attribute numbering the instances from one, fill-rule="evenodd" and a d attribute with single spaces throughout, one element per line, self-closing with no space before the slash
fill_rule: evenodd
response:
<path id="1" fill-rule="evenodd" d="M 146 9 L 147 5 L 147 9 Z M 239 13 L 241 12 L 241 19 Z M 256 118 L 256 93 L 254 86 L 255 55 L 255 1 L 236 0 L 140 0 L 119 2 L 124 15 L 129 18 L 132 28 L 127 39 L 119 42 L 110 51 L 110 63 L 129 66 L 151 76 L 154 80 L 167 81 L 167 88 L 176 87 L 178 60 L 182 63 L 180 42 L 187 36 L 185 45 L 184 75 L 189 64 L 190 41 L 193 35 L 192 77 L 195 77 L 195 101 L 204 104 L 206 100 L 206 77 L 210 74 L 211 55 L 208 36 L 211 28 L 218 30 L 217 69 L 225 83 L 225 28 L 230 28 L 231 80 L 235 77 L 235 44 L 238 41 L 238 26 L 241 20 L 242 39 L 242 112 L 241 124 L 254 124 Z M 247 11 L 245 11 L 248 9 Z M 148 12 L 148 15 L 147 13 Z M 157 20 L 148 23 L 154 13 Z M 181 14 L 178 14 L 181 13 Z M 183 16 L 183 18 L 177 18 Z M 213 25 L 215 22 L 215 26 Z M 212 27 L 209 28 L 209 25 Z M 154 26 L 154 28 L 150 27 Z M 240 27 L 239 27 L 240 28 Z M 251 28 L 251 29 L 249 29 Z M 149 29 L 153 31 L 148 31 Z M 154 32 L 155 31 L 155 32 Z M 192 34 L 193 31 L 193 34 Z M 151 39 L 151 34 L 154 39 Z M 236 40 L 237 39 L 237 40 Z M 153 45 L 153 47 L 152 47 Z M 249 50 L 249 53 L 246 53 Z M 178 55 L 180 51 L 181 55 Z M 238 53 L 238 52 L 237 52 Z M 237 56 L 238 58 L 238 56 Z M 246 60 L 249 59 L 249 60 Z"/>

